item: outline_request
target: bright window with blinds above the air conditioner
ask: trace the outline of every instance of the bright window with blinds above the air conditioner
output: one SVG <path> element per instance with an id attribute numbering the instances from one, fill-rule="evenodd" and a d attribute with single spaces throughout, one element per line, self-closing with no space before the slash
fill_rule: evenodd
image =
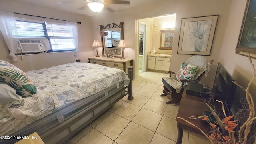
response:
<path id="1" fill-rule="evenodd" d="M 47 38 L 51 47 L 48 52 L 76 50 L 73 33 L 65 24 L 31 21 L 16 20 L 18 38 Z"/>

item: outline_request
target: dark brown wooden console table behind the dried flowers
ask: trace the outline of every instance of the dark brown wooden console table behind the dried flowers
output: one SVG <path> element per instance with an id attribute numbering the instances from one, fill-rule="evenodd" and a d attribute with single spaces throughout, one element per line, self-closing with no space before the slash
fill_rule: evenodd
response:
<path id="1" fill-rule="evenodd" d="M 215 104 L 216 108 L 221 108 L 219 103 Z M 188 120 L 192 124 L 198 126 L 198 128 L 202 129 L 204 132 L 206 132 L 206 134 L 210 134 L 211 128 L 209 124 L 206 124 L 201 119 L 192 120 L 189 118 L 190 116 L 201 116 L 205 110 L 210 111 L 208 106 L 204 102 L 204 98 L 188 95 L 186 94 L 186 89 L 183 91 L 177 117 Z M 204 136 L 204 134 L 202 134 L 202 132 L 198 128 L 192 126 L 191 124 L 188 124 L 184 120 L 177 118 L 176 121 L 178 128 L 178 138 L 176 144 L 181 144 L 182 142 L 183 129 Z"/>

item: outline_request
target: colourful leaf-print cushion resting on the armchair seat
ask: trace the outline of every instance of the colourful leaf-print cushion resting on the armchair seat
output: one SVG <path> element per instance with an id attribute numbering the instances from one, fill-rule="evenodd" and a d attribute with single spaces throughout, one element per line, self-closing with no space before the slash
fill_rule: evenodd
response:
<path id="1" fill-rule="evenodd" d="M 197 69 L 198 66 L 182 62 L 180 70 L 178 70 L 178 72 L 175 74 L 174 79 L 179 82 L 181 82 L 180 79 L 194 80 Z M 187 82 L 184 82 L 184 85 L 187 85 Z"/>

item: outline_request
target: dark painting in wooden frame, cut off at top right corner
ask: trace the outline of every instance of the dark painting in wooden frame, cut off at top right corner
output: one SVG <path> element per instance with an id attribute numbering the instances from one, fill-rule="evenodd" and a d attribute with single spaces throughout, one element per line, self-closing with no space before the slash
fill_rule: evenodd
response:
<path id="1" fill-rule="evenodd" d="M 256 59 L 256 0 L 247 1 L 236 54 Z"/>

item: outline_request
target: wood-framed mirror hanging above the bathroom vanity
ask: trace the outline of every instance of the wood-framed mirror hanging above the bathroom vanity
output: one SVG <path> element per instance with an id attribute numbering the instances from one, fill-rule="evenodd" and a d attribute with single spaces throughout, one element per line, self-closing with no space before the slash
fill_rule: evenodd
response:
<path id="1" fill-rule="evenodd" d="M 174 30 L 160 30 L 160 50 L 172 50 Z"/>

